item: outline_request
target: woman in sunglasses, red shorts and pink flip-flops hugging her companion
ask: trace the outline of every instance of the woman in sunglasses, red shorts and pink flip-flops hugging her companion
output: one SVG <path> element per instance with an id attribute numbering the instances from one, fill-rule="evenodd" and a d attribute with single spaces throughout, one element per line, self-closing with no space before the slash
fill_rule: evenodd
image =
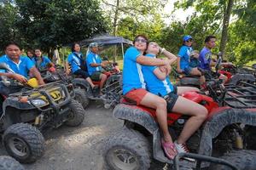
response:
<path id="1" fill-rule="evenodd" d="M 166 100 L 156 94 L 146 90 L 144 82 L 142 65 L 166 66 L 166 72 L 171 71 L 170 60 L 154 59 L 144 56 L 148 46 L 148 38 L 138 35 L 133 41 L 134 46 L 125 51 L 124 69 L 123 69 L 123 94 L 128 101 L 136 105 L 144 105 L 155 109 L 157 121 L 163 133 L 161 139 L 166 156 L 173 159 L 177 154 L 175 145 L 172 143 L 172 137 L 168 131 Z M 164 50 L 164 49 L 163 49 Z"/>

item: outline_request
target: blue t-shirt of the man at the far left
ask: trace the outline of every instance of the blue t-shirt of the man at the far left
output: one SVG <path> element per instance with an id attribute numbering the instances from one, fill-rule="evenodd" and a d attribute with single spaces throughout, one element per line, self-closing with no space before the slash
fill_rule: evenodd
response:
<path id="1" fill-rule="evenodd" d="M 9 68 L 13 71 L 15 71 L 16 74 L 20 74 L 23 77 L 28 77 L 27 73 L 28 71 L 34 67 L 31 59 L 28 59 L 28 57 L 20 57 L 19 63 L 15 63 L 12 59 L 10 59 L 7 55 L 4 55 L 0 58 L 0 63 L 6 63 L 9 65 Z M 5 70 L 0 70 L 1 72 L 6 72 Z"/>

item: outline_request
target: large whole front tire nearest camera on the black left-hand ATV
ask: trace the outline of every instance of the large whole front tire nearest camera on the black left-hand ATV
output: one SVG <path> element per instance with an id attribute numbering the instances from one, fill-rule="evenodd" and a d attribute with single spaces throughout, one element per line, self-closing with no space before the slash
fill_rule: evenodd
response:
<path id="1" fill-rule="evenodd" d="M 9 155 L 22 163 L 37 161 L 44 153 L 44 136 L 26 123 L 8 127 L 3 133 L 3 144 Z"/>

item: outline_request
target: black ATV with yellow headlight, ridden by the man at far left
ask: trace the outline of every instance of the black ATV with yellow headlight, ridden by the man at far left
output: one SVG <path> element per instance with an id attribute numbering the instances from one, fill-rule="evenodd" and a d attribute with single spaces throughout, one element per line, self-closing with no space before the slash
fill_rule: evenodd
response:
<path id="1" fill-rule="evenodd" d="M 11 71 L 1 63 L 1 69 Z M 51 82 L 31 88 L 15 80 L 2 77 L 6 86 L 20 88 L 20 92 L 0 95 L 0 133 L 3 145 L 17 161 L 29 163 L 44 153 L 42 132 L 61 126 L 77 127 L 84 120 L 82 105 L 74 100 L 72 84 Z M 28 81 L 32 82 L 32 81 Z"/>

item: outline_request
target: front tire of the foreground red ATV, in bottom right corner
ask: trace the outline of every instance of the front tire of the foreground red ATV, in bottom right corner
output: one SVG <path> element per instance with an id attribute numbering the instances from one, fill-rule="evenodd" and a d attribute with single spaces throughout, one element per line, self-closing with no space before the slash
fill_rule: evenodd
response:
<path id="1" fill-rule="evenodd" d="M 229 161 L 239 170 L 256 170 L 256 150 L 232 150 L 219 158 Z M 210 169 L 231 170 L 224 165 L 211 165 Z"/>

